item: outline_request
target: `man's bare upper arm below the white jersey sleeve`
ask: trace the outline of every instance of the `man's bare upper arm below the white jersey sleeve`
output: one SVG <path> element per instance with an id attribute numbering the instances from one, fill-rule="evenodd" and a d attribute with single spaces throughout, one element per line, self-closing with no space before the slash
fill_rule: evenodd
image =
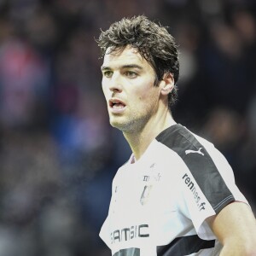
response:
<path id="1" fill-rule="evenodd" d="M 220 255 L 256 255 L 256 221 L 247 204 L 230 203 L 208 223 L 224 245 Z"/>

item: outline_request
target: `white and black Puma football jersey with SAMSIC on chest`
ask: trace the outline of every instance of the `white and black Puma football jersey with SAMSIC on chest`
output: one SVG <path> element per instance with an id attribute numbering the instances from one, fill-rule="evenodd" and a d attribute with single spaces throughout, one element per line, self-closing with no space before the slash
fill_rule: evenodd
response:
<path id="1" fill-rule="evenodd" d="M 114 256 L 218 255 L 206 219 L 232 201 L 247 203 L 224 155 L 172 125 L 119 168 L 100 236 Z"/>

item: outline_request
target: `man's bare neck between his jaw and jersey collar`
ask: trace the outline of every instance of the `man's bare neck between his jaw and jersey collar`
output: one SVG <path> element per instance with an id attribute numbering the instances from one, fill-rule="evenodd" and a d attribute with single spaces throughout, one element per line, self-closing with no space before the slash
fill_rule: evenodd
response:
<path id="1" fill-rule="evenodd" d="M 149 144 L 152 143 L 161 131 L 175 124 L 176 122 L 172 118 L 172 114 L 167 111 L 159 118 L 156 117 L 148 121 L 141 131 L 124 132 L 125 139 L 129 143 L 136 160 L 141 158 Z"/>

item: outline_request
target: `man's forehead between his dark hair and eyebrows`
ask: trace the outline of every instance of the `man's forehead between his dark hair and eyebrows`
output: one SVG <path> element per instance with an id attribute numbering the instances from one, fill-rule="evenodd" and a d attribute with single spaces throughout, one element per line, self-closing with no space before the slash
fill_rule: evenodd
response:
<path id="1" fill-rule="evenodd" d="M 114 50 L 113 52 L 110 52 L 110 49 L 107 49 L 103 61 L 104 66 L 128 65 L 131 63 L 138 64 L 142 67 L 150 66 L 148 61 L 140 55 L 138 50 L 129 45 L 126 46 L 125 49 Z"/>

